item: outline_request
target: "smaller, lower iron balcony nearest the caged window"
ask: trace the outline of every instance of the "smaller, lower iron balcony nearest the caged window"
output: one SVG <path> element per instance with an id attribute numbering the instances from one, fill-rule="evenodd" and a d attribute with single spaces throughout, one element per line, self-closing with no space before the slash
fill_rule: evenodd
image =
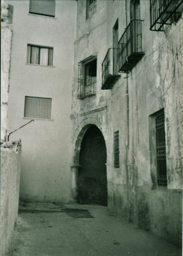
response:
<path id="1" fill-rule="evenodd" d="M 118 63 L 117 54 L 118 48 L 109 48 L 102 62 L 102 90 L 111 89 L 117 79 L 120 77 L 117 74 Z"/>

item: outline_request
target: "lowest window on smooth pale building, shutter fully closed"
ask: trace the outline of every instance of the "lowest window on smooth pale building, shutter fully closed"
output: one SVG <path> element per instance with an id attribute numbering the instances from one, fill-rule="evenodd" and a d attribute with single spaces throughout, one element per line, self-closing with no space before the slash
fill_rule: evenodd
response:
<path id="1" fill-rule="evenodd" d="M 24 117 L 51 119 L 52 99 L 25 97 Z"/>

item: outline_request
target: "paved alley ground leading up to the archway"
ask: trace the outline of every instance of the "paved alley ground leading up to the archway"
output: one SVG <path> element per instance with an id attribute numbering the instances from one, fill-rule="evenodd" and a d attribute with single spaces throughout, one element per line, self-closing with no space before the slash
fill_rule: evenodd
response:
<path id="1" fill-rule="evenodd" d="M 19 207 L 9 256 L 182 255 L 182 250 L 110 215 L 107 207 L 29 203 Z"/>

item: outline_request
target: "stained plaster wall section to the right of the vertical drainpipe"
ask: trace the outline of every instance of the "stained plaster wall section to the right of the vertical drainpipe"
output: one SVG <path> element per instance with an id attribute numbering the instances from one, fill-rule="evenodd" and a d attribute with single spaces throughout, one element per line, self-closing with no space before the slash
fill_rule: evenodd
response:
<path id="1" fill-rule="evenodd" d="M 128 87 L 131 221 L 181 246 L 182 18 L 165 32 L 152 32 L 146 11 L 149 4 L 141 2 L 145 56 L 130 72 Z M 155 186 L 156 164 L 149 151 L 154 136 L 148 129 L 149 116 L 161 108 L 165 112 L 167 189 Z"/>

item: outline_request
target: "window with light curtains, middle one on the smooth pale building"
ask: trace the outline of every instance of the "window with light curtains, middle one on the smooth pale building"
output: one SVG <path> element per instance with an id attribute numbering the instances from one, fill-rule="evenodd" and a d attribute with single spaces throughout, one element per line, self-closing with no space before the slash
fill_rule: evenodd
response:
<path id="1" fill-rule="evenodd" d="M 53 66 L 53 48 L 28 44 L 27 63 Z"/>

